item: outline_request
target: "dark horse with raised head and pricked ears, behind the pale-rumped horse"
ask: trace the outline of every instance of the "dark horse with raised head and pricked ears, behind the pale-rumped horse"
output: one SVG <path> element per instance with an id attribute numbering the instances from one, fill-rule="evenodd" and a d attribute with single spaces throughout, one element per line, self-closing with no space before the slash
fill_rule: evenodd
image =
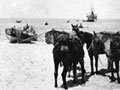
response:
<path id="1" fill-rule="evenodd" d="M 94 55 L 93 54 L 93 49 L 91 48 L 93 34 L 89 33 L 89 32 L 80 31 L 78 25 L 73 25 L 72 24 L 71 26 L 73 28 L 72 30 L 77 31 L 77 35 L 78 35 L 79 38 L 81 38 L 82 43 L 83 44 L 86 43 L 87 50 L 88 50 L 88 55 L 90 57 L 91 75 L 94 74 L 93 57 L 95 57 L 95 67 L 96 67 L 96 74 L 97 74 L 98 73 L 98 54 Z"/>

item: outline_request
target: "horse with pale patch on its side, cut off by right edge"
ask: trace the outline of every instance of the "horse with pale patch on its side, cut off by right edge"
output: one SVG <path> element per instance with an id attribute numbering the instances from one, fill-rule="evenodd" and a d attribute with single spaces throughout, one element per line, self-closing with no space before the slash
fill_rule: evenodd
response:
<path id="1" fill-rule="evenodd" d="M 101 50 L 103 50 L 103 52 L 105 53 L 111 66 L 111 75 L 112 75 L 111 81 L 115 81 L 113 79 L 114 77 L 113 62 L 115 62 L 117 79 L 118 79 L 118 83 L 120 83 L 120 78 L 119 78 L 120 36 L 119 35 L 115 36 L 115 35 L 117 35 L 117 33 L 108 36 L 102 33 L 94 32 L 92 47 L 94 48 L 94 54 L 98 54 L 99 52 L 101 52 Z"/>

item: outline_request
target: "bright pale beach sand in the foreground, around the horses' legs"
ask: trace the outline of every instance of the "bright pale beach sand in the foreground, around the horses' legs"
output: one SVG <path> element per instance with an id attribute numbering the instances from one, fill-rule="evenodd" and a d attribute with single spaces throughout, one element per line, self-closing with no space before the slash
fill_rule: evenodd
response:
<path id="1" fill-rule="evenodd" d="M 0 43 L 0 90 L 63 90 L 59 68 L 58 88 L 54 88 L 53 45 L 45 42 L 36 44 Z M 72 77 L 67 77 L 69 90 L 119 90 L 117 82 L 110 83 L 108 76 L 90 76 L 90 60 L 85 49 L 86 83 L 72 84 Z M 107 60 L 100 56 L 99 70 L 107 68 Z M 79 65 L 78 65 L 79 66 Z M 81 71 L 77 70 L 77 74 Z M 72 73 L 71 73 L 72 74 Z M 107 76 L 108 75 L 108 76 Z M 80 82 L 81 77 L 78 77 Z"/>

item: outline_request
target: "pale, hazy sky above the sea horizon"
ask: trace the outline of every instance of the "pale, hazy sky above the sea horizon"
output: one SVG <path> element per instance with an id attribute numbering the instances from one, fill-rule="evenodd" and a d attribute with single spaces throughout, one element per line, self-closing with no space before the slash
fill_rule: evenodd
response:
<path id="1" fill-rule="evenodd" d="M 120 0 L 0 0 L 0 18 L 86 18 L 91 5 L 99 19 L 120 19 Z"/>

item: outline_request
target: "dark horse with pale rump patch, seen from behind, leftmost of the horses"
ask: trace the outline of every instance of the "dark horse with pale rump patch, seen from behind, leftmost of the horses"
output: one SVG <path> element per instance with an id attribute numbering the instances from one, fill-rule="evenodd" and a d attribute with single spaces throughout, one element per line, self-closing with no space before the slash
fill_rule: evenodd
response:
<path id="1" fill-rule="evenodd" d="M 69 67 L 73 66 L 73 75 L 74 80 L 76 82 L 76 65 L 78 62 L 81 64 L 82 68 L 82 82 L 84 82 L 84 51 L 82 47 L 81 40 L 77 37 L 69 37 L 69 34 L 60 34 L 58 35 L 59 31 L 51 30 L 48 31 L 45 35 L 46 43 L 50 44 L 54 41 L 54 48 L 53 48 L 53 58 L 54 58 L 54 78 L 55 78 L 55 87 L 57 87 L 57 77 L 58 77 L 58 66 L 59 63 L 63 63 L 63 72 L 62 72 L 62 79 L 64 88 L 67 89 L 66 83 L 66 73 Z M 48 35 L 49 34 L 49 35 Z"/>

